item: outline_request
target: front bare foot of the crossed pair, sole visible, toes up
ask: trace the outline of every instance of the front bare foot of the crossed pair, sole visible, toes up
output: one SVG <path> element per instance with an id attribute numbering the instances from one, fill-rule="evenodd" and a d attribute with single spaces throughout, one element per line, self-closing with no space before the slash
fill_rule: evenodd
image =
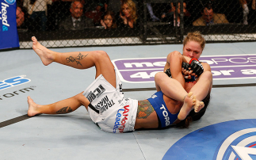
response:
<path id="1" fill-rule="evenodd" d="M 193 109 L 193 105 L 196 105 L 197 99 L 195 97 L 191 97 L 192 95 L 193 93 L 189 92 L 185 97 L 181 111 L 178 113 L 178 120 L 184 120 L 185 117 L 188 116 L 189 112 Z"/>

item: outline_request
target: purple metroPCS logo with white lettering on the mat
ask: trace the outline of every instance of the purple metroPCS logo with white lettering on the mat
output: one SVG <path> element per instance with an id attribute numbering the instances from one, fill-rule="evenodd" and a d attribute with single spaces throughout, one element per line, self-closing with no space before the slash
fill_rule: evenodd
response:
<path id="1" fill-rule="evenodd" d="M 202 55 L 199 60 L 210 65 L 214 80 L 256 78 L 256 55 Z M 113 64 L 122 82 L 154 82 L 155 74 L 166 65 L 166 57 L 115 59 Z"/>

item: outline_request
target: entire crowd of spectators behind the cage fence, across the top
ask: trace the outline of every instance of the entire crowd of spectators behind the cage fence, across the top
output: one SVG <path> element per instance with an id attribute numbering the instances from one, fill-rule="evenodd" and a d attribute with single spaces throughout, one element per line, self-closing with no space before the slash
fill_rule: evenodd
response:
<path id="1" fill-rule="evenodd" d="M 136 29 L 143 7 L 138 0 L 20 0 L 17 29 L 31 31 L 82 29 Z M 181 4 L 147 3 L 147 21 L 180 25 Z M 175 14 L 177 10 L 177 15 Z M 250 25 L 255 0 L 183 1 L 184 25 Z"/>

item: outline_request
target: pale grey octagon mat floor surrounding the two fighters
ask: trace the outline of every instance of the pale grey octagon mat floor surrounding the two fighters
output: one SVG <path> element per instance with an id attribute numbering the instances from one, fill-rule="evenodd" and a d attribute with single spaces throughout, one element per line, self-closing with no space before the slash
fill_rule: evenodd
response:
<path id="1" fill-rule="evenodd" d="M 241 59 L 243 62 L 229 65 L 229 70 L 235 68 L 235 65 L 243 64 L 243 67 L 250 67 L 250 76 L 243 74 L 229 78 L 228 75 L 232 72 L 229 74 L 224 74 L 223 70 L 214 72 L 212 99 L 201 120 L 193 122 L 185 129 L 167 128 L 125 134 L 111 134 L 99 130 L 83 107 L 66 115 L 40 115 L 28 118 L 26 97 L 30 96 L 36 103 L 42 105 L 72 97 L 93 82 L 94 68 L 75 70 L 56 63 L 44 67 L 32 49 L 2 51 L 0 52 L 2 61 L 0 87 L 8 82 L 7 79 L 17 76 L 30 81 L 0 90 L 0 159 L 159 160 L 168 155 L 167 151 L 178 143 L 179 139 L 193 131 L 231 120 L 255 119 L 254 45 L 255 42 L 206 44 L 202 56 L 215 57 L 215 61 L 212 62 L 219 64 L 224 61 L 235 62 L 235 59 L 228 58 L 230 56 L 240 57 L 236 60 Z M 103 50 L 109 54 L 113 62 L 116 62 L 120 59 L 164 58 L 170 51 L 182 51 L 182 45 L 53 48 L 52 50 L 60 52 Z M 226 77 L 217 78 L 221 73 Z M 138 100 L 146 99 L 155 93 L 154 87 L 154 82 L 126 80 L 123 82 L 125 97 Z M 219 131 L 208 134 L 222 133 Z M 207 140 L 205 139 L 204 143 L 207 143 Z M 193 146 L 190 147 L 193 149 Z M 202 144 L 202 147 L 207 148 L 205 144 Z M 194 154 L 193 157 L 190 154 L 187 153 L 187 158 L 183 156 L 170 159 L 200 159 L 199 153 Z M 207 154 L 207 151 L 204 154 Z"/>

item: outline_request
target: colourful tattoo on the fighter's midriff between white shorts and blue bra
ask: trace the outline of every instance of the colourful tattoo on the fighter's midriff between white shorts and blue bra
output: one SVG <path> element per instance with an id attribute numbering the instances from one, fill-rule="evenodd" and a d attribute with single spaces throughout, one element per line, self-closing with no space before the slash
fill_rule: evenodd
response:
<path id="1" fill-rule="evenodd" d="M 147 100 L 139 101 L 139 107 L 137 110 L 138 119 L 146 119 L 147 116 L 151 115 L 155 109 L 152 107 L 151 103 Z"/>

